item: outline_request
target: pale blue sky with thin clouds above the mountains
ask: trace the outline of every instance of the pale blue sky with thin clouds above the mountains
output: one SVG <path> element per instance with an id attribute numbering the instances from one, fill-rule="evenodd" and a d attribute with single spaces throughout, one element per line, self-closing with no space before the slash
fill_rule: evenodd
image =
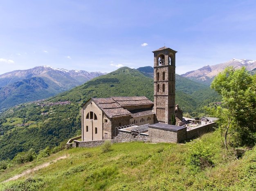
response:
<path id="1" fill-rule="evenodd" d="M 256 60 L 255 0 L 1 0 L 0 75 L 36 66 L 112 72 L 176 53 L 176 73 Z"/>

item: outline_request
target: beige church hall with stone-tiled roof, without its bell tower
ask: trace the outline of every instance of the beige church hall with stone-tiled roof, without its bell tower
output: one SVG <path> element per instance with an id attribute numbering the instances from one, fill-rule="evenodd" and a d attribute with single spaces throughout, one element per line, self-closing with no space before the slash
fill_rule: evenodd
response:
<path id="1" fill-rule="evenodd" d="M 145 96 L 90 98 L 81 109 L 82 141 L 112 139 L 125 125 L 153 124 L 153 105 Z"/>

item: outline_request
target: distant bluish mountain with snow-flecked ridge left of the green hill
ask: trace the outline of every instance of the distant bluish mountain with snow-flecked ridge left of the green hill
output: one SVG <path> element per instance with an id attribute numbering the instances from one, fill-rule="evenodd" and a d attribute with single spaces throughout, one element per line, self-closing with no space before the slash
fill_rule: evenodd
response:
<path id="1" fill-rule="evenodd" d="M 51 66 L 7 72 L 0 75 L 0 110 L 20 103 L 46 99 L 105 74 Z"/>

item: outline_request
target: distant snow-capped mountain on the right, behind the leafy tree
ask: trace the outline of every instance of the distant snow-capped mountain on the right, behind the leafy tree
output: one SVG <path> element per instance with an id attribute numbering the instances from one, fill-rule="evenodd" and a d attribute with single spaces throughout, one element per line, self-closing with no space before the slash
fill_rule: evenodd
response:
<path id="1" fill-rule="evenodd" d="M 222 72 L 227 66 L 233 66 L 235 69 L 245 66 L 248 71 L 252 71 L 256 68 L 256 60 L 231 59 L 222 64 L 216 64 L 213 66 L 207 65 L 198 70 L 186 72 L 185 74 L 182 74 L 182 76 L 210 85 L 214 77 L 218 75 L 219 72 Z"/>

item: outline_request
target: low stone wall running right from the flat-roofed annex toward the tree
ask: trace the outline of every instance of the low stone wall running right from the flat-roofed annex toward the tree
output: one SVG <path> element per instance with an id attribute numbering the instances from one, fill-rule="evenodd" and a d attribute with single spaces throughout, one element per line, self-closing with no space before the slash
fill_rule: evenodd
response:
<path id="1" fill-rule="evenodd" d="M 191 130 L 186 131 L 186 140 L 190 140 L 192 138 L 200 137 L 205 133 L 213 131 L 213 127 L 216 125 L 215 122 L 211 122 L 207 125 L 203 125 L 202 127 L 196 127 Z"/>

